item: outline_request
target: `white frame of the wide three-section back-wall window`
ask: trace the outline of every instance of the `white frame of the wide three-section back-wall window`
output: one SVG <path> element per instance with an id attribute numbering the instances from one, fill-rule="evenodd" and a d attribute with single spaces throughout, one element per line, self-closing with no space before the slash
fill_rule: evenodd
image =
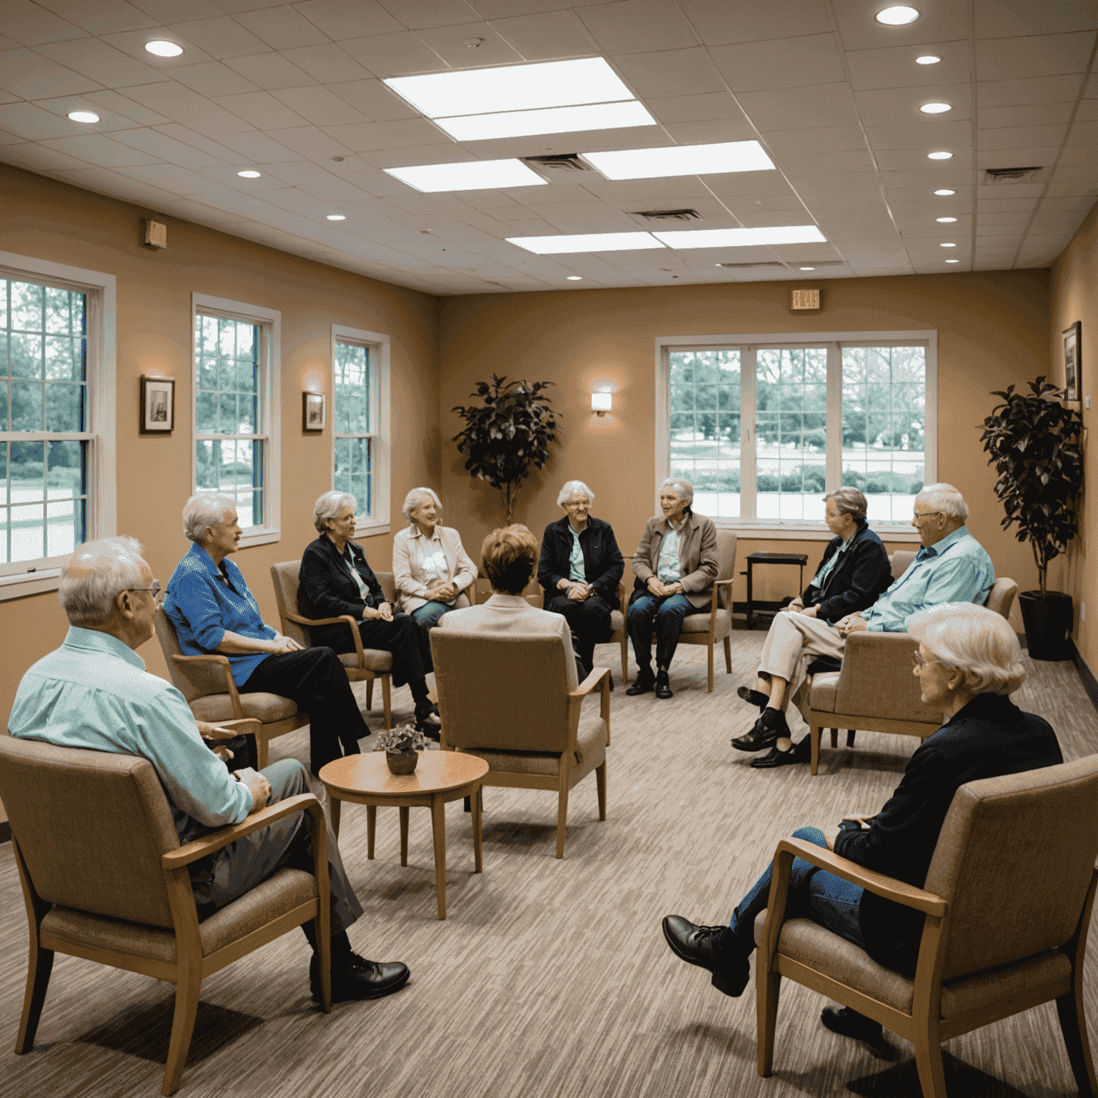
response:
<path id="1" fill-rule="evenodd" d="M 705 336 L 657 336 L 656 338 L 656 498 L 654 514 L 659 514 L 660 484 L 670 475 L 671 469 L 671 352 L 673 350 L 728 350 L 741 349 L 741 393 L 749 390 L 750 401 L 741 419 L 741 438 L 754 445 L 754 352 L 759 348 L 775 347 L 827 347 L 828 348 L 828 435 L 841 435 L 839 418 L 840 403 L 832 401 L 832 381 L 842 378 L 842 347 L 885 347 L 899 344 L 926 344 L 927 347 L 927 395 L 925 437 L 925 481 L 938 481 L 938 332 L 926 329 L 916 332 L 770 332 L 733 335 Z M 841 386 L 840 386 L 841 396 Z M 750 415 L 747 407 L 750 405 Z M 753 467 L 751 470 L 753 478 Z M 827 453 L 827 482 L 838 486 L 842 481 L 842 452 Z M 828 541 L 831 531 L 822 520 L 774 519 L 774 518 L 714 518 L 718 527 L 736 530 L 742 535 L 757 535 L 775 541 Z M 919 534 L 906 522 L 873 523 L 874 530 L 889 541 L 918 541 Z"/>

